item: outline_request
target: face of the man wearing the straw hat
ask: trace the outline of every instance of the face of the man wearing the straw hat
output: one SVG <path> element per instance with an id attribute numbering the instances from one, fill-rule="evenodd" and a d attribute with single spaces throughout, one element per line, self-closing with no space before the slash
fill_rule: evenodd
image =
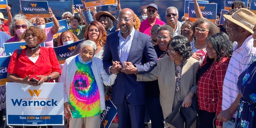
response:
<path id="1" fill-rule="evenodd" d="M 234 42 L 234 41 L 238 41 L 239 38 L 241 38 L 241 34 L 242 34 L 242 29 L 240 29 L 241 27 L 238 26 L 237 24 L 231 22 L 230 20 L 226 19 L 225 20 L 225 24 L 224 24 L 224 28 L 226 28 L 229 40 Z"/>

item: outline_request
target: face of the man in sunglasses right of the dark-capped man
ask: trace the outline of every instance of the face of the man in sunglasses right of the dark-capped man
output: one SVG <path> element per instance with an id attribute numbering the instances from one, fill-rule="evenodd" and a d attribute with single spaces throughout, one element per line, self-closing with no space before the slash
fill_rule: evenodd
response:
<path id="1" fill-rule="evenodd" d="M 175 9 L 169 9 L 166 11 L 165 18 L 166 18 L 167 24 L 173 28 L 178 23 L 179 15 Z"/>

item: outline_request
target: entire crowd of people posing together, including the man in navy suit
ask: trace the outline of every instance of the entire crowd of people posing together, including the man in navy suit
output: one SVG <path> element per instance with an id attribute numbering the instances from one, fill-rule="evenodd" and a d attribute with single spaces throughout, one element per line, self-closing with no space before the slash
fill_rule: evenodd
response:
<path id="1" fill-rule="evenodd" d="M 67 128 L 100 128 L 105 94 L 117 108 L 119 128 L 146 128 L 149 120 L 152 128 L 175 128 L 164 119 L 179 102 L 188 108 L 194 98 L 198 119 L 190 128 L 256 128 L 256 14 L 235 1 L 222 25 L 220 16 L 216 23 L 204 18 L 193 1 L 196 22 L 184 16 L 178 21 L 178 9 L 170 6 L 165 23 L 156 4 L 143 8 L 139 18 L 122 9 L 120 0 L 115 16 L 92 15 L 82 0 L 78 16 L 74 6 L 62 14 L 69 29 L 57 39 L 60 25 L 51 8 L 52 20 L 27 20 L 22 13 L 12 18 L 6 6 L 8 19 L 0 13 L 7 21 L 0 25 L 0 56 L 6 56 L 3 43 L 26 42 L 12 54 L 7 78 L 30 86 L 64 83 Z M 48 20 L 54 26 L 46 28 Z M 59 64 L 53 47 L 78 40 L 83 42 L 73 56 Z"/>

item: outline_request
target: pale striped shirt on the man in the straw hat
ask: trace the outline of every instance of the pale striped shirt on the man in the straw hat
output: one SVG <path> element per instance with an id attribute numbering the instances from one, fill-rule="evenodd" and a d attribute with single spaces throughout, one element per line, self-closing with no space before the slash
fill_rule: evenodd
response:
<path id="1" fill-rule="evenodd" d="M 244 40 L 242 46 L 234 46 L 234 52 L 228 64 L 228 69 L 223 82 L 222 110 L 228 109 L 236 100 L 239 90 L 236 86 L 238 76 L 252 63 L 256 58 L 256 48 L 253 47 L 252 35 Z M 232 116 L 236 118 L 236 112 Z"/>

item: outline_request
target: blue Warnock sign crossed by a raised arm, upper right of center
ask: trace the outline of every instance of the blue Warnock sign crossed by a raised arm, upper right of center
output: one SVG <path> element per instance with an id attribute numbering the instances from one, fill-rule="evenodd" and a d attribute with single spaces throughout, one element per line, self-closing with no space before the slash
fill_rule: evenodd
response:
<path id="1" fill-rule="evenodd" d="M 204 18 L 216 22 L 216 14 L 217 14 L 217 4 L 215 3 L 198 3 L 201 13 Z M 189 11 L 188 11 L 188 19 L 192 22 L 196 22 L 196 12 L 194 2 L 189 2 L 188 4 Z"/>

